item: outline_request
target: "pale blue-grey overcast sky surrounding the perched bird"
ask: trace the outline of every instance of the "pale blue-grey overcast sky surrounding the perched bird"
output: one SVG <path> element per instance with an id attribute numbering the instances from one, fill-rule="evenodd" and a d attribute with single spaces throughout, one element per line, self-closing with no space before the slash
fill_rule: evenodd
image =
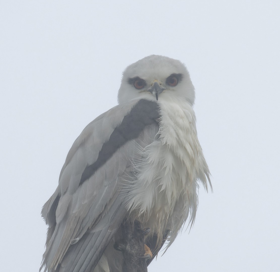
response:
<path id="1" fill-rule="evenodd" d="M 1 271 L 38 271 L 73 141 L 117 104 L 122 71 L 160 54 L 196 88 L 214 193 L 155 271 L 277 271 L 279 1 L 0 1 Z"/>

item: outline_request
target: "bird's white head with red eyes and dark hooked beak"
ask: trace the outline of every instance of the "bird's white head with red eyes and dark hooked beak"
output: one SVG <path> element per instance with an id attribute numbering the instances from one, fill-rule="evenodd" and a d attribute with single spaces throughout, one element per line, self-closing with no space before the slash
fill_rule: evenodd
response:
<path id="1" fill-rule="evenodd" d="M 178 60 L 150 55 L 123 72 L 118 102 L 131 99 L 157 101 L 177 96 L 193 105 L 195 92 L 186 67 Z"/>

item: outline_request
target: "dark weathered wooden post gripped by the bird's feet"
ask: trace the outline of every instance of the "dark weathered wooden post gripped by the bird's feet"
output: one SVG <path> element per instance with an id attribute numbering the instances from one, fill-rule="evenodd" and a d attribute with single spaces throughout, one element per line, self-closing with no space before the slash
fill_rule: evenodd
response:
<path id="1" fill-rule="evenodd" d="M 147 272 L 144 240 L 150 229 L 141 229 L 137 220 L 123 221 L 121 229 L 122 237 L 114 247 L 123 253 L 122 272 Z"/>

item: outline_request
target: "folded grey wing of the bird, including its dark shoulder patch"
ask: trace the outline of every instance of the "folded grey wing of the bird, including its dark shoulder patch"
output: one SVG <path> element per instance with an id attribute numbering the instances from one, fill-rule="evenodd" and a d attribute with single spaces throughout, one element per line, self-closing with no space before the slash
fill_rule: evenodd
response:
<path id="1" fill-rule="evenodd" d="M 100 115 L 76 139 L 42 209 L 49 228 L 40 270 L 92 271 L 127 215 L 120 180 L 144 138 L 153 141 L 157 119 L 155 102 L 134 101 Z"/>

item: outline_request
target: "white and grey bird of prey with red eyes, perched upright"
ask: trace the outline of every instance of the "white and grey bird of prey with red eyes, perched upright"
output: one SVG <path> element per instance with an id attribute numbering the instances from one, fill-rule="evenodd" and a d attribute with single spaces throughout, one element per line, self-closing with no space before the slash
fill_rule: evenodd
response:
<path id="1" fill-rule="evenodd" d="M 193 224 L 199 184 L 212 189 L 194 99 L 178 60 L 150 55 L 125 69 L 119 104 L 74 141 L 43 206 L 48 232 L 40 271 L 122 271 L 127 220 L 139 222 L 149 264 L 186 221 Z"/>

